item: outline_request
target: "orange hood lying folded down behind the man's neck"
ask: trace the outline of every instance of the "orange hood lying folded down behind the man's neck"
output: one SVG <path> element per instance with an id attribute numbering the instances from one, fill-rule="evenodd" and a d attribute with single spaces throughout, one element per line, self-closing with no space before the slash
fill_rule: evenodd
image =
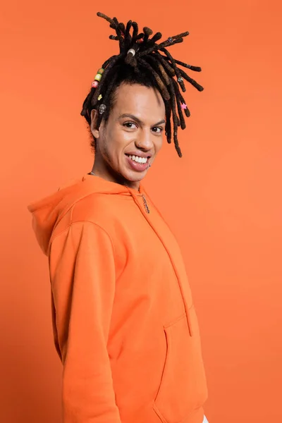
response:
<path id="1" fill-rule="evenodd" d="M 142 187 L 140 187 L 142 193 Z M 54 194 L 33 202 L 27 208 L 32 213 L 32 228 L 37 242 L 45 255 L 48 254 L 49 241 L 56 225 L 73 204 L 94 193 L 109 195 L 140 195 L 140 192 L 118 183 L 86 174 L 59 188 Z"/>

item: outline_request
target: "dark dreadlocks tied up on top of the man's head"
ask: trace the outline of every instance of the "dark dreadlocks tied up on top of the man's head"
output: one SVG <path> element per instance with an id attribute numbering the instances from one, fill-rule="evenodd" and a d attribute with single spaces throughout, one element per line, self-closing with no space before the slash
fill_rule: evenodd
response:
<path id="1" fill-rule="evenodd" d="M 198 91 L 202 91 L 204 88 L 177 65 L 195 72 L 200 72 L 201 68 L 173 59 L 166 47 L 183 42 L 183 37 L 189 35 L 189 32 L 168 37 L 166 41 L 157 44 L 162 37 L 161 32 L 157 32 L 152 38 L 149 38 L 153 33 L 152 30 L 144 27 L 143 32 L 138 33 L 138 25 L 132 20 L 129 20 L 125 27 L 123 23 L 118 23 L 116 18 L 111 19 L 104 13 L 98 12 L 97 16 L 106 19 L 110 23 L 110 27 L 116 30 L 116 35 L 110 35 L 109 38 L 119 42 L 120 52 L 103 63 L 102 78 L 97 87 L 92 87 L 85 98 L 81 115 L 85 116 L 90 125 L 92 109 L 99 109 L 99 106 L 104 104 L 106 106 L 104 113 L 98 114 L 97 126 L 99 128 L 102 119 L 107 121 L 109 118 L 118 86 L 128 83 L 157 89 L 166 108 L 166 139 L 168 143 L 171 143 L 171 137 L 173 137 L 178 156 L 182 157 L 178 145 L 178 126 L 185 129 L 183 111 L 187 117 L 190 116 L 190 111 L 180 89 L 182 92 L 186 90 L 184 80 L 190 82 Z M 131 28 L 133 28 L 132 34 L 130 34 Z M 131 51 L 128 51 L 130 49 Z M 186 106 L 185 109 L 181 107 L 182 104 Z M 92 141 L 92 147 L 95 147 L 95 139 Z"/>

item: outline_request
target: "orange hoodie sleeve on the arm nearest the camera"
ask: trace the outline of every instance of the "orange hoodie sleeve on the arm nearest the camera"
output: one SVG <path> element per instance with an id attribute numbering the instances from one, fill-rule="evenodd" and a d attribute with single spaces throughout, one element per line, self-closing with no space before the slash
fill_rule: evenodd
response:
<path id="1" fill-rule="evenodd" d="M 121 423 L 107 352 L 115 292 L 114 249 L 92 222 L 53 240 L 49 269 L 63 363 L 63 423 Z"/>

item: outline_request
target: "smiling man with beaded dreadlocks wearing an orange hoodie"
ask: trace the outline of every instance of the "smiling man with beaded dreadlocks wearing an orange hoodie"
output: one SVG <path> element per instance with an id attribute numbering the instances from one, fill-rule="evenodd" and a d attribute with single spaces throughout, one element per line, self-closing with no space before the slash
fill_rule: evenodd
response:
<path id="1" fill-rule="evenodd" d="M 184 79 L 202 87 L 137 23 L 109 21 L 120 52 L 99 68 L 82 107 L 94 166 L 31 204 L 49 257 L 63 423 L 202 423 L 207 386 L 178 243 L 141 183 L 164 135 L 178 155 L 189 116 Z M 130 30 L 133 28 L 133 32 Z M 161 54 L 164 53 L 164 54 Z M 176 79 L 174 78 L 176 76 Z"/>

